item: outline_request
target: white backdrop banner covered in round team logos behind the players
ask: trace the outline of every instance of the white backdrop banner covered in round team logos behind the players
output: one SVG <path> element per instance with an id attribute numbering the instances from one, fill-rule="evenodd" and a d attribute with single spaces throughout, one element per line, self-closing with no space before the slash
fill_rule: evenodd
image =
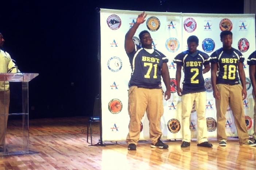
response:
<path id="1" fill-rule="evenodd" d="M 131 78 L 131 65 L 124 49 L 127 31 L 136 22 L 141 11 L 101 9 L 101 105 L 102 140 L 124 141 L 128 134 L 128 82 Z M 150 32 L 152 47 L 168 57 L 167 63 L 171 78 L 171 98 L 164 101 L 164 114 L 161 119 L 162 139 L 181 139 L 181 97 L 176 93 L 176 64 L 174 57 L 187 50 L 187 38 L 195 35 L 199 39 L 198 50 L 209 56 L 222 47 L 220 33 L 230 30 L 233 33 L 233 48 L 239 49 L 245 57 L 247 98 L 244 100 L 245 120 L 248 133 L 253 134 L 252 86 L 249 80 L 247 58 L 255 51 L 254 14 L 198 14 L 146 12 L 146 21 L 139 26 L 134 41 L 139 44 L 139 33 Z M 182 75 L 183 76 L 183 75 Z M 216 105 L 213 98 L 210 72 L 203 75 L 206 88 L 206 120 L 209 137 L 217 136 Z M 163 90 L 165 89 L 162 81 Z M 227 108 L 226 133 L 237 136 L 232 111 Z M 190 130 L 192 138 L 197 134 L 197 113 L 191 110 Z M 149 139 L 147 115 L 141 120 L 140 140 Z"/>

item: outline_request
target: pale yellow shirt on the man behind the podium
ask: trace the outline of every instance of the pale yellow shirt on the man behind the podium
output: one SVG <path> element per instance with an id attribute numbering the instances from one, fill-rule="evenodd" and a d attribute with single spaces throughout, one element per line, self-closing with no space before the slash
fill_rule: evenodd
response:
<path id="1" fill-rule="evenodd" d="M 17 67 L 9 53 L 0 49 L 0 73 L 17 73 Z M 9 90 L 9 82 L 5 82 L 5 91 Z M 0 81 L 0 91 L 4 91 L 4 82 Z"/>

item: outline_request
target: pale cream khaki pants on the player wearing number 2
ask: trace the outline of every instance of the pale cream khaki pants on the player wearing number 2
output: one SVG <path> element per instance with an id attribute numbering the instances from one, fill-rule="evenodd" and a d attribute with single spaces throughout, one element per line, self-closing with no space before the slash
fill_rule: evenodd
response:
<path id="1" fill-rule="evenodd" d="M 207 142 L 207 126 L 205 119 L 206 92 L 182 95 L 182 141 L 191 142 L 190 114 L 195 101 L 197 111 L 197 143 Z"/>

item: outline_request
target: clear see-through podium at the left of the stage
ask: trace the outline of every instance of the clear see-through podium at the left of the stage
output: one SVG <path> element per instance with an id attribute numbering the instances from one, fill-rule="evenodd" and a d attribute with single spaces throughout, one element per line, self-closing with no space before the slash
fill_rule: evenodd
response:
<path id="1" fill-rule="evenodd" d="M 8 82 L 20 82 L 22 89 L 20 93 L 18 93 L 21 98 L 22 109 L 21 113 L 6 113 L 6 110 L 0 109 L 1 120 L 5 120 L 0 122 L 0 124 L 4 123 L 4 144 L 3 148 L 1 148 L 0 156 L 8 156 L 8 155 L 21 155 L 21 154 L 31 154 L 37 153 L 35 151 L 29 150 L 29 114 L 28 114 L 28 82 L 33 78 L 38 76 L 38 73 L 0 73 L 0 82 L 6 84 Z M 4 86 L 5 87 L 5 86 Z M 12 89 L 10 89 L 12 90 Z M 4 96 L 4 103 L 6 102 Z M 15 118 L 15 131 L 18 131 L 18 134 L 13 135 L 12 138 L 8 137 L 8 131 L 12 131 L 13 129 L 8 129 L 8 126 L 5 122 L 8 117 Z M 16 121 L 17 120 L 17 121 Z M 3 127 L 3 126 L 2 126 Z"/>

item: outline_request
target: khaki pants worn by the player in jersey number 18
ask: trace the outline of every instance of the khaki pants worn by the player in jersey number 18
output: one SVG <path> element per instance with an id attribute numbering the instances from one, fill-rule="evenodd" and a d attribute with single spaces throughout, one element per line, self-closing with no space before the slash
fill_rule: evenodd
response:
<path id="1" fill-rule="evenodd" d="M 239 143 L 243 144 L 249 139 L 247 127 L 245 124 L 244 105 L 241 92 L 243 88 L 240 84 L 217 84 L 217 89 L 220 92 L 220 99 L 216 99 L 217 139 L 227 139 L 226 110 L 229 105 L 234 116 Z"/>

